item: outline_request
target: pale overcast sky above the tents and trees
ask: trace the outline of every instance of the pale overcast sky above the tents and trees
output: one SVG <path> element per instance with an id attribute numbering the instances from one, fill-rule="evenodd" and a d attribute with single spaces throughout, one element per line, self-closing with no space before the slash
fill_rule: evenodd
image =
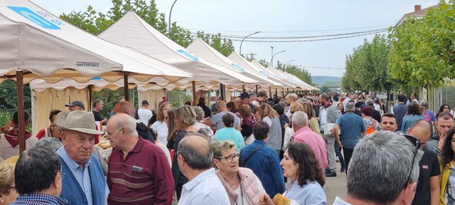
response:
<path id="1" fill-rule="evenodd" d="M 62 0 L 32 1 L 57 16 L 72 10 L 85 11 L 88 5 L 106 13 L 113 6 L 111 0 L 65 0 L 64 3 Z M 174 0 L 156 0 L 158 10 L 165 13 L 166 18 L 173 2 Z M 437 3 L 438 0 L 178 0 L 172 11 L 171 21 L 177 21 L 178 25 L 191 31 L 205 30 L 206 33 L 219 31 L 223 35 L 246 36 L 255 31 L 262 31 L 255 36 L 319 36 L 395 25 L 404 14 L 414 11 L 414 5 L 420 4 L 423 9 Z M 348 30 L 315 31 L 332 29 Z M 274 57 L 275 65 L 277 61 L 295 60 L 291 64 L 323 67 L 307 68 L 314 76 L 341 77 L 346 54 L 352 53 L 352 49 L 362 44 L 363 39 L 371 40 L 373 37 L 374 35 L 368 35 L 310 42 L 244 41 L 242 54 L 254 53 L 257 54 L 256 59 L 270 62 L 272 57 L 270 46 L 273 46 L 274 53 L 286 50 Z M 240 42 L 234 41 L 234 46 L 238 53 Z"/>

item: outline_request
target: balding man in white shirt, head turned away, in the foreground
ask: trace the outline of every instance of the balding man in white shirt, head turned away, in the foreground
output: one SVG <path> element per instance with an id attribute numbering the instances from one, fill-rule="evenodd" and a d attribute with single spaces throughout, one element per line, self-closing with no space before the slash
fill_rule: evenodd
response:
<path id="1" fill-rule="evenodd" d="M 198 133 L 188 133 L 178 143 L 178 167 L 188 178 L 179 205 L 230 205 L 224 186 L 212 168 L 212 145 Z"/>

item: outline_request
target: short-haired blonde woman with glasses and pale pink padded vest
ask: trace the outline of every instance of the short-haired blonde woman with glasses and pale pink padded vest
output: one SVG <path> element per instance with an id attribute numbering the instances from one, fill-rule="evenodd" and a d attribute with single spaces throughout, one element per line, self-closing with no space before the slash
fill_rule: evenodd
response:
<path id="1" fill-rule="evenodd" d="M 230 141 L 212 143 L 213 164 L 216 175 L 223 184 L 231 205 L 258 205 L 259 198 L 265 193 L 260 180 L 251 169 L 238 167 L 238 153 Z"/>

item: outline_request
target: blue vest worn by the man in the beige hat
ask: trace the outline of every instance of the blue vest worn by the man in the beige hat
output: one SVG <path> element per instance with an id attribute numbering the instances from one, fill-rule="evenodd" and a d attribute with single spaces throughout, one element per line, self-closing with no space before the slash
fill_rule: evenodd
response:
<path id="1" fill-rule="evenodd" d="M 61 162 L 61 171 L 65 174 L 65 178 L 61 182 L 60 197 L 68 200 L 70 205 L 88 205 L 85 193 L 80 187 L 76 177 L 69 169 L 68 165 L 59 156 Z M 99 165 L 98 159 L 92 155 L 90 157 L 91 163 L 88 166 L 92 184 L 92 195 L 94 205 L 106 204 L 106 180 L 104 179 L 103 171 Z"/>

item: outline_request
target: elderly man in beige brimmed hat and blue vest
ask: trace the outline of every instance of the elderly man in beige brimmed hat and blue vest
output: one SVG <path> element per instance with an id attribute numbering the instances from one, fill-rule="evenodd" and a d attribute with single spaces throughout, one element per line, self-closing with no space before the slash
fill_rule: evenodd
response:
<path id="1" fill-rule="evenodd" d="M 61 162 L 60 197 L 76 205 L 105 205 L 109 192 L 101 166 L 93 153 L 95 128 L 93 113 L 73 111 L 68 114 L 61 130 L 63 146 L 57 150 Z"/>

